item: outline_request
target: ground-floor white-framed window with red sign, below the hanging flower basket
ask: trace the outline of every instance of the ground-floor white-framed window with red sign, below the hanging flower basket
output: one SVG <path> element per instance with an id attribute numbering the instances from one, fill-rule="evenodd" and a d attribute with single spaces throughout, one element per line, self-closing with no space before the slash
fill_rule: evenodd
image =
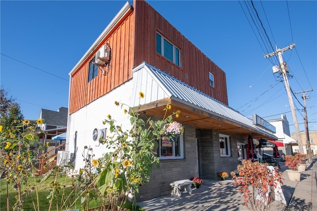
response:
<path id="1" fill-rule="evenodd" d="M 177 135 L 172 140 L 162 136 L 158 140 L 157 157 L 159 159 L 181 159 L 184 158 L 183 135 Z"/>

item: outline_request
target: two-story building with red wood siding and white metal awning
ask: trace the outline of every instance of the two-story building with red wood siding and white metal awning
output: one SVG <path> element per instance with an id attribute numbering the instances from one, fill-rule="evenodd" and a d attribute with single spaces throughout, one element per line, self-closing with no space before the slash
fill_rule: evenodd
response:
<path id="1" fill-rule="evenodd" d="M 106 58 L 107 43 L 111 58 Z M 158 155 L 160 168 L 154 168 L 138 200 L 170 193 L 169 183 L 175 180 L 218 179 L 218 172 L 236 169 L 239 149 L 246 158 L 249 134 L 277 140 L 227 106 L 225 73 L 143 0 L 122 7 L 69 75 L 66 150 L 76 157 L 73 173 L 85 165 L 84 146 L 91 146 L 96 158 L 106 152 L 104 145 L 94 142 L 93 131 L 106 130 L 103 120 L 108 114 L 123 129 L 131 128 L 114 101 L 140 105 L 144 119 L 162 119 L 166 104 L 181 111 L 176 121 L 184 134 L 173 142 L 169 156 Z"/>

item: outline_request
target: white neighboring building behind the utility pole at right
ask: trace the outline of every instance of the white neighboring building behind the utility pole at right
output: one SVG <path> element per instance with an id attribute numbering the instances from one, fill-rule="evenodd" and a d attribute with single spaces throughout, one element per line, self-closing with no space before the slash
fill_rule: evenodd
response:
<path id="1" fill-rule="evenodd" d="M 268 120 L 267 122 L 276 128 L 275 135 L 278 137 L 278 141 L 282 142 L 285 146 L 278 148 L 280 150 L 280 155 L 292 155 L 295 152 L 295 149 L 298 149 L 298 144 L 296 140 L 290 137 L 291 133 L 286 116 L 283 114 L 281 115 L 281 119 Z"/>

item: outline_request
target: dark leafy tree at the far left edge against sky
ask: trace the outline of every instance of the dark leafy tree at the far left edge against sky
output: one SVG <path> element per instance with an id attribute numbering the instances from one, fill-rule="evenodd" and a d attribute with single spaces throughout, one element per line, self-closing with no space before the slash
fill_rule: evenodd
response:
<path id="1" fill-rule="evenodd" d="M 12 96 L 8 96 L 8 92 L 0 88 L 0 125 L 3 129 L 10 129 L 21 125 L 24 119 L 20 110 L 20 105 L 14 102 Z"/>

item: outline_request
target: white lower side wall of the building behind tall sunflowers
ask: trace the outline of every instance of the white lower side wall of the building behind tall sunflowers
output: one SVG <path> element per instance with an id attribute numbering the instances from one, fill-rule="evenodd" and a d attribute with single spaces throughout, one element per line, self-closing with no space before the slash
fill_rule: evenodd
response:
<path id="1" fill-rule="evenodd" d="M 106 135 L 110 135 L 108 125 L 103 124 L 108 114 L 116 121 L 115 125 L 122 125 L 122 130 L 131 128 L 130 120 L 128 119 L 129 115 L 123 112 L 124 108 L 129 110 L 128 107 L 123 106 L 121 109 L 121 105 L 116 106 L 114 101 L 129 105 L 132 93 L 132 81 L 133 80 L 130 80 L 122 84 L 69 116 L 66 150 L 70 153 L 74 152 L 74 138 L 75 131 L 77 131 L 77 151 L 74 173 L 78 172 L 78 170 L 85 165 L 82 156 L 84 146 L 93 148 L 93 154 L 95 154 L 94 159 L 102 157 L 106 152 L 106 146 L 103 144 L 99 145 L 99 142 L 94 141 L 92 136 L 95 128 L 102 129 L 106 127 L 108 128 Z"/>

